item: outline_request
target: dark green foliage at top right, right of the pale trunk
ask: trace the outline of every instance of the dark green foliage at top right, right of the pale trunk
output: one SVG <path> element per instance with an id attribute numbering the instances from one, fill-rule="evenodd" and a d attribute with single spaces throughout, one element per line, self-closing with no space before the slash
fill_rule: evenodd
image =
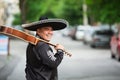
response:
<path id="1" fill-rule="evenodd" d="M 119 2 L 119 0 L 87 0 L 90 20 L 110 25 L 120 22 Z"/>

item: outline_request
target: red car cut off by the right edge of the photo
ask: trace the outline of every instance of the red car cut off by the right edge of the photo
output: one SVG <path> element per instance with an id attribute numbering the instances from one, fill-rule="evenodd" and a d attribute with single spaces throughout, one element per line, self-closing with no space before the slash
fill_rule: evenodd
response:
<path id="1" fill-rule="evenodd" d="M 111 58 L 120 61 L 120 31 L 111 37 L 110 41 Z"/>

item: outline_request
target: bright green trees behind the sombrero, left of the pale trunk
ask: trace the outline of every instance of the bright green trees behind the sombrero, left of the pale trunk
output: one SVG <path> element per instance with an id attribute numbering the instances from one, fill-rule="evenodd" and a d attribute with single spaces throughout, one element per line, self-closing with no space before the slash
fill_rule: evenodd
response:
<path id="1" fill-rule="evenodd" d="M 66 19 L 70 25 L 82 24 L 82 0 L 20 0 L 19 6 L 22 23 L 36 21 L 45 15 Z"/>

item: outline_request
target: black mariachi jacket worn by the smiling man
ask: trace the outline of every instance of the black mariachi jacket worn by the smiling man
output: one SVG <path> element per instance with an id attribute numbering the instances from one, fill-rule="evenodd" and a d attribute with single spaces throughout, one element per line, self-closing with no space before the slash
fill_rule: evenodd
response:
<path id="1" fill-rule="evenodd" d="M 44 42 L 36 46 L 29 44 L 26 51 L 26 79 L 58 80 L 57 67 L 62 59 L 62 51 L 54 55 L 51 47 Z"/>

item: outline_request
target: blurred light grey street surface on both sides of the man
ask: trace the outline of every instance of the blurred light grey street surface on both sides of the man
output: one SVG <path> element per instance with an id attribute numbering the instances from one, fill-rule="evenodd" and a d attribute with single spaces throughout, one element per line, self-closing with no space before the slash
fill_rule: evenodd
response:
<path id="1" fill-rule="evenodd" d="M 58 67 L 59 80 L 120 80 L 120 63 L 110 58 L 110 49 L 93 49 L 58 33 L 51 42 L 64 45 L 72 54 L 72 57 L 65 55 Z M 11 40 L 11 56 L 0 69 L 0 80 L 25 80 L 26 46 L 27 42 Z"/>

